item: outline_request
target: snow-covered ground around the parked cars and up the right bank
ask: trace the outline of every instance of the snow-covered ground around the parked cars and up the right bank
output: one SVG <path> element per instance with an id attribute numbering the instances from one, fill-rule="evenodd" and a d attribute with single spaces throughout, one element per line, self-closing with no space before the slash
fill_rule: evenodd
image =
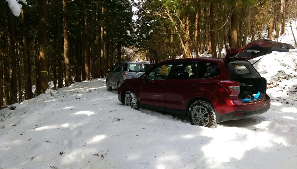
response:
<path id="1" fill-rule="evenodd" d="M 282 42 L 295 46 L 289 33 Z M 47 90 L 0 110 L 0 168 L 297 168 L 296 55 L 255 64 L 269 83 L 268 112 L 214 129 L 123 106 L 105 79 Z"/>

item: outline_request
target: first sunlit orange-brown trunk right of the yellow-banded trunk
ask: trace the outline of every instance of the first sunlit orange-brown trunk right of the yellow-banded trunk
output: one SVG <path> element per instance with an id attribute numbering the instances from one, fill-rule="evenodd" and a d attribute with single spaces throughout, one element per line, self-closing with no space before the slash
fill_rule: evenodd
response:
<path id="1" fill-rule="evenodd" d="M 63 0 L 63 21 L 64 21 L 64 62 L 65 62 L 65 85 L 70 86 L 72 83 L 70 71 L 70 55 L 68 40 L 68 18 L 67 18 L 67 0 Z"/>

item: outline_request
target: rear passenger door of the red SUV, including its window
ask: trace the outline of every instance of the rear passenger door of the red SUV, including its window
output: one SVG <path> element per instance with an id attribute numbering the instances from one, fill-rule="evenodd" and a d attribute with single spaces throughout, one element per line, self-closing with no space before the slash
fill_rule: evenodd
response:
<path id="1" fill-rule="evenodd" d="M 187 98 L 197 93 L 197 65 L 198 61 L 182 61 L 173 66 L 166 86 L 166 111 L 184 113 L 179 110 L 185 110 Z"/>

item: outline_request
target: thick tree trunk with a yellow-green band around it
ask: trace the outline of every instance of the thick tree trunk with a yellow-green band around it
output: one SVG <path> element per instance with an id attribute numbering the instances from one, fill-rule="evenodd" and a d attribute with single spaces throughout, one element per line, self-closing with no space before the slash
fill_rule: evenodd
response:
<path id="1" fill-rule="evenodd" d="M 48 88 L 48 65 L 46 62 L 46 0 L 38 0 L 38 44 L 40 93 Z"/>

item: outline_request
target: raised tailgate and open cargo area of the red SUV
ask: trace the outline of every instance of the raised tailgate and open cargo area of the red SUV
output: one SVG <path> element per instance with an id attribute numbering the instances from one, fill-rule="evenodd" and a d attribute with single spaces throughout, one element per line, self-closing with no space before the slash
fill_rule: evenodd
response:
<path id="1" fill-rule="evenodd" d="M 241 101 L 253 102 L 264 99 L 267 87 L 266 79 L 246 60 L 264 56 L 272 51 L 288 52 L 290 49 L 294 49 L 290 44 L 271 40 L 255 40 L 244 47 L 229 48 L 225 63 L 232 78 L 230 80 L 239 83 Z"/>

